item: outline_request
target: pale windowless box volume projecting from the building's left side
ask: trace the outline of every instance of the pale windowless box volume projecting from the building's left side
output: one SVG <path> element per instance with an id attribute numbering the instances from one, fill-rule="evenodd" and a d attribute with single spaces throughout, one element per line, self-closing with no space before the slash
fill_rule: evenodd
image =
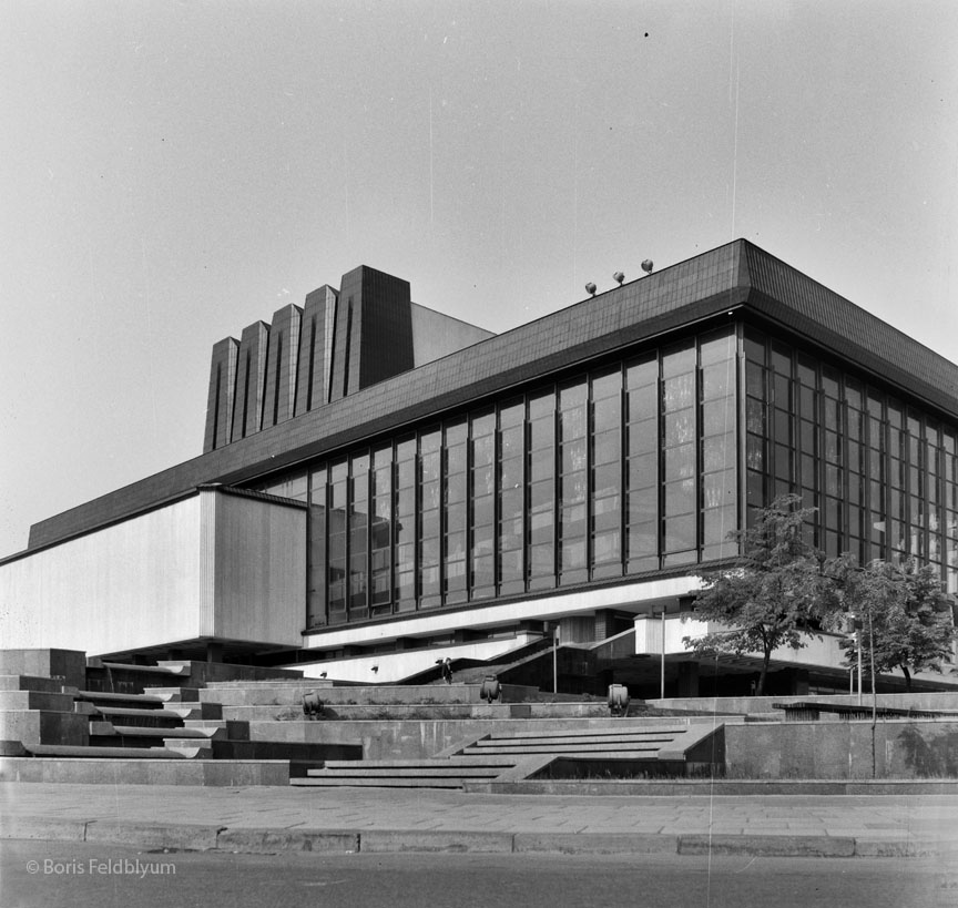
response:
<path id="1" fill-rule="evenodd" d="M 306 513 L 216 490 L 0 564 L 0 646 L 298 644 Z"/>

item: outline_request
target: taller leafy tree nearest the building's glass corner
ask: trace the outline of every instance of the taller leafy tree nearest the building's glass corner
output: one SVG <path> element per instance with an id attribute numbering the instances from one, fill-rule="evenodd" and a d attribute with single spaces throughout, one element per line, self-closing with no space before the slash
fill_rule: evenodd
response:
<path id="1" fill-rule="evenodd" d="M 827 621 L 834 600 L 827 595 L 822 554 L 806 538 L 804 523 L 815 512 L 796 494 L 776 498 L 760 511 L 753 527 L 731 533 L 742 555 L 725 569 L 703 573 L 694 602 L 696 616 L 727 630 L 685 637 L 701 654 L 762 653 L 756 694 L 765 692 L 772 653 L 779 646 L 804 646 Z"/>

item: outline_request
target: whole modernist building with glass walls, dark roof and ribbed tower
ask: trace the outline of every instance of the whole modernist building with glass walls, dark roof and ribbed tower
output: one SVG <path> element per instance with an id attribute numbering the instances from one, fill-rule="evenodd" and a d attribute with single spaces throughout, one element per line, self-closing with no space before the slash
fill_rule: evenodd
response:
<path id="1" fill-rule="evenodd" d="M 499 336 L 359 267 L 214 346 L 202 456 L 31 528 L 0 645 L 381 682 L 558 626 L 605 680 L 741 690 L 682 643 L 696 571 L 784 492 L 958 591 L 958 366 L 745 241 Z M 848 688 L 837 637 L 775 675 Z"/>

